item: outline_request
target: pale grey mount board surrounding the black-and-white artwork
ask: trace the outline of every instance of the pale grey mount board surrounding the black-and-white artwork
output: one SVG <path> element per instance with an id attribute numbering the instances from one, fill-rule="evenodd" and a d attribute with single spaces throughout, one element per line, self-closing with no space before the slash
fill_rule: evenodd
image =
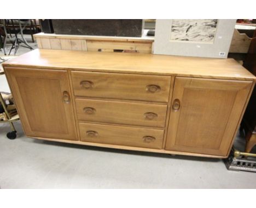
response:
<path id="1" fill-rule="evenodd" d="M 172 20 L 156 20 L 154 54 L 210 58 L 228 57 L 236 20 L 218 20 L 214 39 L 208 42 L 191 41 L 190 39 L 188 41 L 173 40 L 171 38 L 172 22 Z M 202 32 L 205 31 L 202 30 Z"/>

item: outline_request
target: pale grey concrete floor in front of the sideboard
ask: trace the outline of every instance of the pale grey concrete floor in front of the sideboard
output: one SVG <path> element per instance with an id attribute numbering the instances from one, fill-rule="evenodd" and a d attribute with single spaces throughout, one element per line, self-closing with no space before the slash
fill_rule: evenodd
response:
<path id="1" fill-rule="evenodd" d="M 9 91 L 4 76 L 0 91 Z M 219 159 L 47 142 L 15 127 L 9 140 L 0 124 L 1 188 L 256 188 L 256 173 L 229 171 Z M 244 144 L 237 136 L 236 148 Z"/>

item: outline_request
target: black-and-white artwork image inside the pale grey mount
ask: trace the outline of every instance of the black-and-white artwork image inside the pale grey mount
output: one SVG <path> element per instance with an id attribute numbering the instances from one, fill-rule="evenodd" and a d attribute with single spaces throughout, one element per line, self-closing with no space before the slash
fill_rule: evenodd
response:
<path id="1" fill-rule="evenodd" d="M 217 19 L 172 20 L 171 41 L 213 43 L 217 24 Z"/>

